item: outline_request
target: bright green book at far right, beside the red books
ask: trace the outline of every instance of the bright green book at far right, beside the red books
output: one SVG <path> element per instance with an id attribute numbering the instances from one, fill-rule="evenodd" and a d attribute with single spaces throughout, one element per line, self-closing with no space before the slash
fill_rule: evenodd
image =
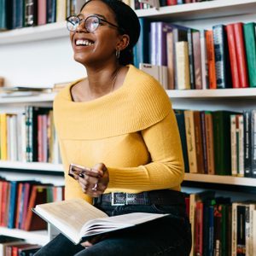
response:
<path id="1" fill-rule="evenodd" d="M 243 25 L 244 41 L 247 55 L 247 69 L 250 87 L 256 87 L 256 31 L 255 22 Z"/>

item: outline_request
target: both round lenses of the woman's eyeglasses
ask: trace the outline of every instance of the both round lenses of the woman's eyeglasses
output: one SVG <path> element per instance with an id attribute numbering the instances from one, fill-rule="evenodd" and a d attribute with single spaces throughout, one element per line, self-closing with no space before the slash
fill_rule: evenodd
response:
<path id="1" fill-rule="evenodd" d="M 83 19 L 80 19 L 77 16 L 69 17 L 69 19 L 67 20 L 67 29 L 69 31 L 75 31 L 82 20 Z M 91 16 L 86 18 L 84 22 L 84 26 L 88 32 L 95 32 L 96 28 L 100 24 L 100 19 L 96 16 Z"/>

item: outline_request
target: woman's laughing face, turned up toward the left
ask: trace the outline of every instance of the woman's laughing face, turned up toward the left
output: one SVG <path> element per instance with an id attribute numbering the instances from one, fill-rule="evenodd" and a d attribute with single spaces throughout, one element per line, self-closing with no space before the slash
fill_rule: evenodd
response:
<path id="1" fill-rule="evenodd" d="M 112 9 L 100 0 L 87 3 L 79 17 L 86 19 L 90 15 L 96 15 L 117 26 Z M 80 22 L 75 32 L 70 32 L 73 46 L 74 59 L 81 64 L 90 65 L 116 61 L 116 46 L 119 43 L 119 33 L 116 27 L 102 21 L 95 32 L 88 32 L 84 26 L 84 20 Z"/>

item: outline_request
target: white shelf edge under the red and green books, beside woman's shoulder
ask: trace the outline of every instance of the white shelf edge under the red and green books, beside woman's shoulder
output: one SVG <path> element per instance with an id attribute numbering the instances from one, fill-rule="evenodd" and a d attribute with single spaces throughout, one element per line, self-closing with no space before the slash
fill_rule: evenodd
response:
<path id="1" fill-rule="evenodd" d="M 167 90 L 172 98 L 254 98 L 256 88 L 215 90 Z"/>

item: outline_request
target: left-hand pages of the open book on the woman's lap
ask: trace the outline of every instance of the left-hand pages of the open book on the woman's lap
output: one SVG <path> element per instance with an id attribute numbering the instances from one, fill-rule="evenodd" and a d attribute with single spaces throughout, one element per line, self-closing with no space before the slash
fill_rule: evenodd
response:
<path id="1" fill-rule="evenodd" d="M 83 199 L 41 204 L 37 205 L 34 211 L 73 241 L 75 237 L 79 239 L 79 232 L 88 220 L 108 217 L 105 212 L 98 210 Z"/>

